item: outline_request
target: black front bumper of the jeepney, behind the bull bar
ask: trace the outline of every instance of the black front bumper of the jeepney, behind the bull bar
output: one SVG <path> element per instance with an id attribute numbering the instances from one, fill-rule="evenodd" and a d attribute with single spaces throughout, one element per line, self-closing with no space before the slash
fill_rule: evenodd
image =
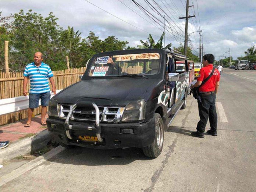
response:
<path id="1" fill-rule="evenodd" d="M 47 128 L 52 132 L 56 141 L 66 145 L 76 145 L 95 149 L 116 149 L 123 147 L 145 147 L 154 142 L 155 120 L 150 119 L 145 123 L 105 123 L 100 124 L 103 142 L 92 143 L 79 139 L 78 136 L 96 135 L 94 131 L 70 130 L 72 139 L 66 135 L 65 121 L 59 118 L 48 118 Z M 80 125 L 84 127 L 93 126 L 93 122 L 74 122 L 70 125 Z M 121 129 L 133 129 L 133 133 L 122 134 Z"/>

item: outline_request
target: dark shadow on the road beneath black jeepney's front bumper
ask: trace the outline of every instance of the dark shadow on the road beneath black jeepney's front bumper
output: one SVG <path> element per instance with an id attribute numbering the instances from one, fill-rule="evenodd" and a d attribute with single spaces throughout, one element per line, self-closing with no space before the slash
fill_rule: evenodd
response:
<path id="1" fill-rule="evenodd" d="M 146 157 L 140 148 L 100 150 L 85 147 L 64 149 L 56 156 L 47 160 L 50 162 L 86 166 L 127 165 L 135 160 L 152 160 Z"/>

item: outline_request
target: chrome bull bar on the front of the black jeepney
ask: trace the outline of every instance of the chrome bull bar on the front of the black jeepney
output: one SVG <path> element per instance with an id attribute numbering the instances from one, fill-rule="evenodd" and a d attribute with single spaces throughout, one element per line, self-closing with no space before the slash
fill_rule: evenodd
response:
<path id="1" fill-rule="evenodd" d="M 94 107 L 94 109 L 96 111 L 95 126 L 81 126 L 81 125 L 70 125 L 69 124 L 71 115 L 77 107 L 78 108 Z M 99 140 L 99 142 L 103 142 L 103 138 L 100 136 L 100 132 L 101 132 L 101 128 L 100 128 L 100 110 L 99 110 L 99 107 L 93 102 L 77 102 L 76 104 L 74 104 L 72 106 L 71 110 L 69 111 L 68 115 L 67 115 L 67 118 L 66 118 L 66 121 L 65 121 L 65 128 L 66 128 L 66 135 L 69 139 L 73 139 L 70 135 L 70 129 L 75 129 L 75 130 L 95 131 L 97 139 Z"/>

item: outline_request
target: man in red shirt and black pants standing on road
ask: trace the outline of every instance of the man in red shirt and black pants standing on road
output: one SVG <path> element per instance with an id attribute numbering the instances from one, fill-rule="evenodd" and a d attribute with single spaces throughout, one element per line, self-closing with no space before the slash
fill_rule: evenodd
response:
<path id="1" fill-rule="evenodd" d="M 199 87 L 202 81 L 206 79 L 213 70 L 214 56 L 213 54 L 206 54 L 203 56 L 203 68 L 199 71 L 198 79 L 193 87 Z M 198 103 L 198 111 L 200 121 L 197 124 L 196 132 L 192 132 L 192 136 L 204 138 L 205 127 L 208 121 L 210 121 L 211 129 L 207 131 L 208 134 L 217 136 L 217 113 L 215 107 L 216 95 L 220 82 L 220 73 L 217 69 L 214 70 L 213 75 L 206 81 L 205 84 L 199 87 L 199 96 L 202 102 Z"/>

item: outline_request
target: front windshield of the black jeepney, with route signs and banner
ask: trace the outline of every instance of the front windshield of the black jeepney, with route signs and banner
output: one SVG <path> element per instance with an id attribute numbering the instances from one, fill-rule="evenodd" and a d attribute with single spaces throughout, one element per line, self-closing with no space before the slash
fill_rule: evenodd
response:
<path id="1" fill-rule="evenodd" d="M 97 57 L 93 61 L 90 77 L 110 77 L 129 74 L 154 75 L 159 71 L 159 53 L 139 53 Z"/>

